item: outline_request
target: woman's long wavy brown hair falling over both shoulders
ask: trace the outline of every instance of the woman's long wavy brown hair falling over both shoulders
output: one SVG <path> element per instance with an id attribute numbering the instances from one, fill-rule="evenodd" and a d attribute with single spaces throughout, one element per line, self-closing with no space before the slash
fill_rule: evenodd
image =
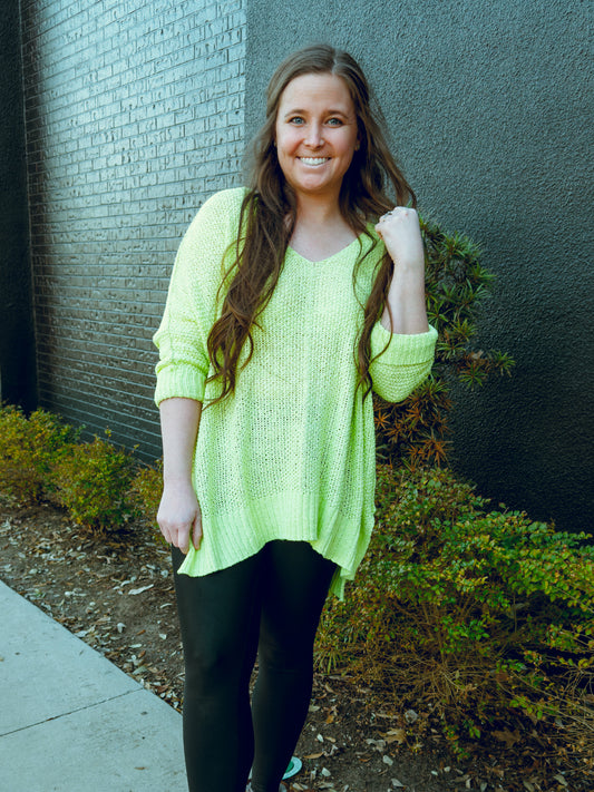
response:
<path id="1" fill-rule="evenodd" d="M 252 162 L 247 192 L 241 207 L 240 231 L 231 246 L 232 264 L 223 278 L 228 289 L 221 286 L 227 291 L 221 317 L 214 323 L 207 342 L 214 370 L 210 381 L 220 379 L 222 387 L 218 397 L 211 403 L 234 392 L 240 354 L 247 342 L 250 349 L 243 368 L 250 362 L 254 350 L 251 329 L 257 325 L 257 316 L 271 299 L 282 271 L 295 226 L 296 201 L 276 157 L 276 114 L 281 95 L 289 82 L 311 74 L 341 77 L 357 113 L 360 145 L 342 180 L 340 211 L 357 236 L 366 234 L 373 244 L 359 257 L 353 284 L 361 261 L 378 244 L 367 228 L 368 223 L 377 222 L 383 213 L 393 208 L 395 199 L 398 205 L 408 202 L 416 205 L 415 193 L 390 154 L 383 131 L 383 116 L 357 61 L 348 52 L 329 45 L 313 45 L 289 56 L 272 76 L 266 94 L 266 118 L 252 141 Z M 393 263 L 384 253 L 364 305 L 362 331 L 353 350 L 364 397 L 372 387 L 369 371 L 371 331 L 387 305 L 392 272 Z"/>

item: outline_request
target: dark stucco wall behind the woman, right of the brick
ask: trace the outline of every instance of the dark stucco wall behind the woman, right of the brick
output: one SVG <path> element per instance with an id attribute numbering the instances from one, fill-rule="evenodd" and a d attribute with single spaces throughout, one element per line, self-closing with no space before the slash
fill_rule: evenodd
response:
<path id="1" fill-rule="evenodd" d="M 592 4 L 582 0 L 252 0 L 246 125 L 288 52 L 351 51 L 420 208 L 496 273 L 480 345 L 513 377 L 457 394 L 458 470 L 569 530 L 593 526 Z"/>

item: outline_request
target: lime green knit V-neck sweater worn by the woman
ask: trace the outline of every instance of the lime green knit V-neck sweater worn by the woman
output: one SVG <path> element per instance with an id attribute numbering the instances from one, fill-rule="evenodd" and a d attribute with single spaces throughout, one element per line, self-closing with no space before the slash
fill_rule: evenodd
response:
<path id="1" fill-rule="evenodd" d="M 206 340 L 218 316 L 223 257 L 237 236 L 244 189 L 217 193 L 201 208 L 177 253 L 154 341 L 155 401 L 207 404 L 220 384 Z M 372 226 L 370 226 L 372 231 Z M 374 232 L 372 232 L 374 233 Z M 357 389 L 354 348 L 383 245 L 363 235 L 321 262 L 289 248 L 274 293 L 252 329 L 254 351 L 237 366 L 235 393 L 202 412 L 193 483 L 203 539 L 179 571 L 201 576 L 236 564 L 267 541 L 308 541 L 338 565 L 331 590 L 343 596 L 373 527 L 376 446 L 371 397 Z M 227 263 L 227 262 L 225 262 Z M 430 371 L 437 333 L 371 336 L 373 389 L 405 399 Z M 245 344 L 243 354 L 246 354 Z"/>

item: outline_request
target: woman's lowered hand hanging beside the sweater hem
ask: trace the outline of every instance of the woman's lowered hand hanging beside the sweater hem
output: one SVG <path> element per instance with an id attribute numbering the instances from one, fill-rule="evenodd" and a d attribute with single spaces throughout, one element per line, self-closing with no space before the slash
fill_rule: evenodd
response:
<path id="1" fill-rule="evenodd" d="M 189 537 L 196 550 L 202 540 L 202 514 L 196 493 L 189 481 L 165 482 L 157 511 L 157 522 L 165 541 L 178 547 L 185 555 Z"/>

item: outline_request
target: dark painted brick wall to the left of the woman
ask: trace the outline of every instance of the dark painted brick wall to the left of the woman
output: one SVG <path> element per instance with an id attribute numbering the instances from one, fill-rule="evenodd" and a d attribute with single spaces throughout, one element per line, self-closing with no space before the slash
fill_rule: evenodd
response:
<path id="1" fill-rule="evenodd" d="M 152 458 L 175 251 L 241 179 L 244 0 L 22 0 L 21 27 L 39 402 Z"/>

